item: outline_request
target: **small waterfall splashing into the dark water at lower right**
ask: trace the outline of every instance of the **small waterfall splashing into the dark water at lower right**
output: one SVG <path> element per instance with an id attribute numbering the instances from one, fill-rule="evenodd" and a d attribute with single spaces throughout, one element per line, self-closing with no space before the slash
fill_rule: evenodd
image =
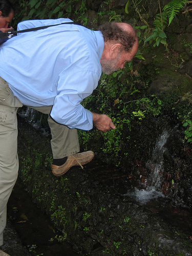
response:
<path id="1" fill-rule="evenodd" d="M 164 162 L 163 154 L 166 150 L 166 142 L 171 133 L 176 132 L 177 126 L 173 129 L 165 129 L 158 138 L 153 150 L 152 158 L 146 163 L 146 168 L 150 170 L 150 175 L 145 182 L 127 182 L 128 196 L 141 205 L 145 205 L 152 210 L 154 215 L 162 218 L 167 224 L 178 228 L 181 232 L 188 234 L 192 239 L 192 215 L 188 207 L 177 200 L 166 197 L 161 193 Z"/>

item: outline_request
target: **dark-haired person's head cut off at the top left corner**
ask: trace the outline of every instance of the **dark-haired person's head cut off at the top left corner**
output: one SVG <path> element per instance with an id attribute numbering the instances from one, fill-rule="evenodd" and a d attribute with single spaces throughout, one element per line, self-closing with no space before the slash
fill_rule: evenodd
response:
<path id="1" fill-rule="evenodd" d="M 8 0 L 0 0 L 0 30 L 7 32 L 9 24 L 14 16 L 14 9 L 12 4 Z"/>

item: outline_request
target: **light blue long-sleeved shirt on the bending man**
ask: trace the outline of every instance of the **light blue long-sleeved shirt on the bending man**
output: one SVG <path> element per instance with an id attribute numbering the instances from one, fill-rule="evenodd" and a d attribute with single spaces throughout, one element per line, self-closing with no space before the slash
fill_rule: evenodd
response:
<path id="1" fill-rule="evenodd" d="M 27 20 L 17 30 L 71 21 Z M 103 47 L 100 31 L 80 25 L 20 33 L 0 46 L 0 76 L 24 105 L 53 105 L 51 117 L 56 122 L 90 130 L 92 113 L 80 102 L 98 85 Z"/>

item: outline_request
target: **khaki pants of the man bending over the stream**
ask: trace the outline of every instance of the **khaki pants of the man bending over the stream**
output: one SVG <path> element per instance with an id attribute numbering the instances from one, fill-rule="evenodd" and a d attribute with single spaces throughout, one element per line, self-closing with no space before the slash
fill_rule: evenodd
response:
<path id="1" fill-rule="evenodd" d="M 18 174 L 17 109 L 22 103 L 13 95 L 8 83 L 0 77 L 0 246 L 7 219 L 7 202 Z M 34 108 L 50 114 L 51 106 Z M 53 158 L 63 158 L 79 152 L 76 129 L 56 123 L 48 118 L 51 129 Z"/>

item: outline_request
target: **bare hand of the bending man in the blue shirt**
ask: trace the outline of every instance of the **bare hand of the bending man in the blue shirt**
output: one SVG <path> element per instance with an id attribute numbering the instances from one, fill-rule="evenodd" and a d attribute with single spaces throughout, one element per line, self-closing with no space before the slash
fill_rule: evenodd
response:
<path id="1" fill-rule="evenodd" d="M 103 114 L 96 114 L 96 113 L 92 113 L 92 114 L 93 114 L 93 123 L 99 131 L 106 133 L 110 131 L 111 128 L 115 129 L 115 125 L 109 116 L 103 115 Z"/>

